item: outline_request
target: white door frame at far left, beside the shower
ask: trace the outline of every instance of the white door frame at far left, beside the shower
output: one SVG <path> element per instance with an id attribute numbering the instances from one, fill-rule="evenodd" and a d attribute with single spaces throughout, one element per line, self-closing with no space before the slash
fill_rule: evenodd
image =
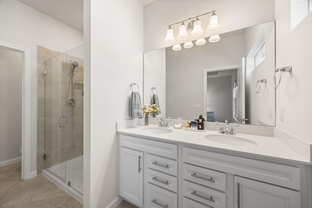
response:
<path id="1" fill-rule="evenodd" d="M 21 120 L 21 179 L 31 175 L 31 67 L 30 49 L 0 42 L 0 47 L 14 50 L 22 54 L 22 120 Z"/>

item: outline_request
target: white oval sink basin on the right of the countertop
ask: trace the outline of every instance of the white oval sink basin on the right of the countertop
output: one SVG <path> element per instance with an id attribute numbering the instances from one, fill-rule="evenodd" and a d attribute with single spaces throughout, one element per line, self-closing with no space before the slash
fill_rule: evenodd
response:
<path id="1" fill-rule="evenodd" d="M 235 145 L 235 146 L 256 146 L 256 143 L 253 140 L 246 139 L 240 136 L 227 135 L 227 134 L 208 134 L 205 136 L 206 139 L 225 144 L 225 145 Z"/>

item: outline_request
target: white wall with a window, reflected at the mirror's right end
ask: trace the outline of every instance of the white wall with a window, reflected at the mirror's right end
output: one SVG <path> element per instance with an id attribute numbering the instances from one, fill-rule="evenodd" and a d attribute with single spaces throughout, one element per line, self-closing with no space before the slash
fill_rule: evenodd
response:
<path id="1" fill-rule="evenodd" d="M 264 30 L 265 38 L 265 59 L 249 75 L 246 75 L 246 118 L 251 124 L 275 126 L 275 108 L 273 105 L 275 102 L 275 90 L 273 88 L 275 70 L 274 24 L 274 22 L 268 22 L 256 25 L 247 28 L 245 32 L 245 57 L 247 60 L 262 30 Z M 249 67 L 248 64 L 246 66 Z M 256 93 L 255 85 L 259 79 L 267 79 L 267 83 L 261 83 L 259 93 Z M 269 108 L 272 109 L 271 118 Z"/>

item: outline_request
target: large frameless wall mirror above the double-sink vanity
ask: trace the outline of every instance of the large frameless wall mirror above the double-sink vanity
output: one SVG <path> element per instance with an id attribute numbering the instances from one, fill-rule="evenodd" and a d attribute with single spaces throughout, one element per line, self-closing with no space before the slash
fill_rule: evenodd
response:
<path id="1" fill-rule="evenodd" d="M 275 22 L 219 36 L 144 53 L 144 104 L 157 94 L 156 117 L 275 126 Z"/>

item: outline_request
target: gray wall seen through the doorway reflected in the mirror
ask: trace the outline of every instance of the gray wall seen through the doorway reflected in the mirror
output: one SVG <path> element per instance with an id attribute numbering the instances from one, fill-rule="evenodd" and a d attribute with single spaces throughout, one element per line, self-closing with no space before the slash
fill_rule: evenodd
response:
<path id="1" fill-rule="evenodd" d="M 232 76 L 207 78 L 207 112 L 215 112 L 215 121 L 232 120 L 231 79 Z"/>

